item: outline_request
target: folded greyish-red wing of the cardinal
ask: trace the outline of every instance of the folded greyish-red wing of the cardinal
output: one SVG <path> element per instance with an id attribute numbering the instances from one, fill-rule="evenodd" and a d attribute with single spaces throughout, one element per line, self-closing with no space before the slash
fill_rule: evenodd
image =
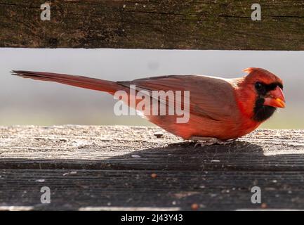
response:
<path id="1" fill-rule="evenodd" d="M 152 91 L 190 91 L 190 113 L 212 120 L 225 120 L 237 114 L 234 89 L 224 79 L 199 75 L 171 75 L 117 83 L 127 87 L 136 85 L 137 91 L 145 90 L 150 94 Z M 176 104 L 183 105 L 183 98 Z"/>

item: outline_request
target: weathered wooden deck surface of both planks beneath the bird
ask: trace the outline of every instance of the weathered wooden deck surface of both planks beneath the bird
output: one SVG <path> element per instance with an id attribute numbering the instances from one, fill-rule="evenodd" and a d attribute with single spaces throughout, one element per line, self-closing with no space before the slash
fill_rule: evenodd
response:
<path id="1" fill-rule="evenodd" d="M 304 131 L 258 130 L 204 148 L 157 131 L 0 127 L 0 210 L 304 208 Z M 251 203 L 253 186 L 263 204 Z"/>

